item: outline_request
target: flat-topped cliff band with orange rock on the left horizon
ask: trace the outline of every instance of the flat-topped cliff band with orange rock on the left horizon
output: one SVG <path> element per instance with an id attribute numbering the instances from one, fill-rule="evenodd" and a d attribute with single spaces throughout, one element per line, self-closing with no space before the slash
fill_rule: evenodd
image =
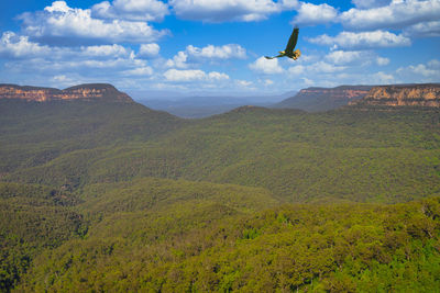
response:
<path id="1" fill-rule="evenodd" d="M 80 84 L 64 90 L 0 84 L 0 99 L 19 99 L 36 102 L 72 100 L 133 102 L 128 94 L 118 91 L 113 86 L 107 83 Z"/>

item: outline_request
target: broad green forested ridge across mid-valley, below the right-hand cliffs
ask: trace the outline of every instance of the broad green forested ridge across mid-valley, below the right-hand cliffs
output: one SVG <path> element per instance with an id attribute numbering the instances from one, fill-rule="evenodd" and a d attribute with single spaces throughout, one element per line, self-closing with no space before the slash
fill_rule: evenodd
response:
<path id="1" fill-rule="evenodd" d="M 439 123 L 436 111 L 240 108 L 154 139 L 70 151 L 3 180 L 80 187 L 183 178 L 261 187 L 290 202 L 402 202 L 439 193 Z"/>

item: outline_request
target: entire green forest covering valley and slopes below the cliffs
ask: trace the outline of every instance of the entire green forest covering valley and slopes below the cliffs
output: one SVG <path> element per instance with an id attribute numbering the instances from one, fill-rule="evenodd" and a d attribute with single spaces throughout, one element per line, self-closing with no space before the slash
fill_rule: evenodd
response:
<path id="1" fill-rule="evenodd" d="M 440 111 L 0 100 L 4 292 L 436 292 Z"/>

